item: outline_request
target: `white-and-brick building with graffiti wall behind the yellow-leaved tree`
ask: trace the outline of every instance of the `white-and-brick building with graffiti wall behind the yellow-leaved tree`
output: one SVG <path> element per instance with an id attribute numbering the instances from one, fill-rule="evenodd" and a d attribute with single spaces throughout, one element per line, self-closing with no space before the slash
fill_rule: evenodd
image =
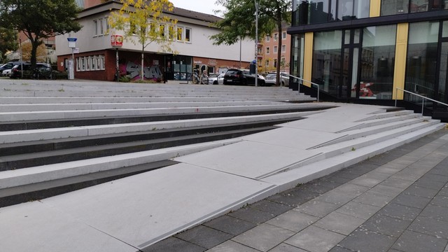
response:
<path id="1" fill-rule="evenodd" d="M 80 0 L 78 5 L 85 8 L 78 15 L 83 29 L 56 36 L 58 69 L 66 70 L 69 59 L 73 57 L 74 78 L 113 80 L 118 61 L 120 75 L 140 78 L 141 45 L 126 39 L 120 47 L 111 43 L 111 36 L 120 34 L 120 31 L 111 33 L 108 18 L 112 11 L 121 8 L 121 3 Z M 165 14 L 178 20 L 175 27 L 165 27 L 177 31 L 170 45 L 177 53 L 162 52 L 157 43 L 148 45 L 144 52 L 144 78 L 187 80 L 196 68 L 208 73 L 222 73 L 229 68 L 248 69 L 253 61 L 254 41 L 243 40 L 241 45 L 213 44 L 210 36 L 220 32 L 213 24 L 220 18 L 182 8 L 174 8 Z M 76 48 L 69 48 L 67 38 L 76 38 Z"/>

